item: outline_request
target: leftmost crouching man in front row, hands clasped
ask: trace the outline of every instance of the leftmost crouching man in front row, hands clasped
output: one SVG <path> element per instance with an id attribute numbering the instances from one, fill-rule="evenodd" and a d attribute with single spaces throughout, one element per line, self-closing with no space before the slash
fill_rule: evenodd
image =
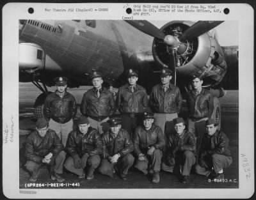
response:
<path id="1" fill-rule="evenodd" d="M 36 121 L 36 131 L 29 134 L 26 139 L 25 166 L 31 173 L 29 181 L 37 180 L 40 167 L 44 164 L 50 165 L 52 180 L 65 181 L 60 176 L 63 173 L 63 162 L 66 156 L 63 149 L 60 138 L 54 130 L 49 129 L 46 119 L 39 118 Z"/>

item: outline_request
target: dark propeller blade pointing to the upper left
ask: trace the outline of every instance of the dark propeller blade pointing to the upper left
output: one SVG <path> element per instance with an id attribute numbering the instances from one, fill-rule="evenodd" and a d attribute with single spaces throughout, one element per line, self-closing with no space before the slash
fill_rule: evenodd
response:
<path id="1" fill-rule="evenodd" d="M 139 29 L 147 35 L 164 40 L 164 33 L 147 20 L 125 20 L 125 22 L 131 24 L 131 26 L 135 27 L 136 29 Z"/>

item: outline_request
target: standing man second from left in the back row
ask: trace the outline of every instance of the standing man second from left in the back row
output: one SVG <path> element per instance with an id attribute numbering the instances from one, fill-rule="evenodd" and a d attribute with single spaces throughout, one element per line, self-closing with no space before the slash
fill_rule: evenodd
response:
<path id="1" fill-rule="evenodd" d="M 102 83 L 102 74 L 93 72 L 93 88 L 84 93 L 80 107 L 83 116 L 88 117 L 90 126 L 96 128 L 100 134 L 104 132 L 103 123 L 116 111 L 113 93 L 103 88 Z"/>

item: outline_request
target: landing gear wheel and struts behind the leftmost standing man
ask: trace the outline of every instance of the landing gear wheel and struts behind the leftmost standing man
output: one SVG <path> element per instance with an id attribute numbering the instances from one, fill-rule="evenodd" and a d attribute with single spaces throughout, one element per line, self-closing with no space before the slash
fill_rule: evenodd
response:
<path id="1" fill-rule="evenodd" d="M 37 81 L 32 81 L 32 83 L 36 86 L 36 88 L 40 89 L 43 93 L 40 94 L 35 101 L 34 105 L 34 114 L 35 118 L 43 118 L 44 117 L 44 102 L 47 95 L 52 93 L 51 91 L 48 91 L 45 84 L 43 84 L 44 88 L 40 85 Z"/>

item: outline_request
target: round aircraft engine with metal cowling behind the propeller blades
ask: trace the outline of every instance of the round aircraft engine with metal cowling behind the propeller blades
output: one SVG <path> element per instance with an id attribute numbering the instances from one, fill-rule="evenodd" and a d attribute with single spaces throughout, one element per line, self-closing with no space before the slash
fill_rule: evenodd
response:
<path id="1" fill-rule="evenodd" d="M 180 42 L 179 36 L 192 25 L 190 21 L 172 21 L 161 27 L 164 35 L 172 35 L 179 42 L 175 50 L 177 81 L 186 82 L 188 77 L 198 73 L 204 78 L 205 86 L 214 86 L 227 71 L 223 50 L 209 33 Z M 171 49 L 163 40 L 154 38 L 152 52 L 159 65 L 170 68 Z"/>

